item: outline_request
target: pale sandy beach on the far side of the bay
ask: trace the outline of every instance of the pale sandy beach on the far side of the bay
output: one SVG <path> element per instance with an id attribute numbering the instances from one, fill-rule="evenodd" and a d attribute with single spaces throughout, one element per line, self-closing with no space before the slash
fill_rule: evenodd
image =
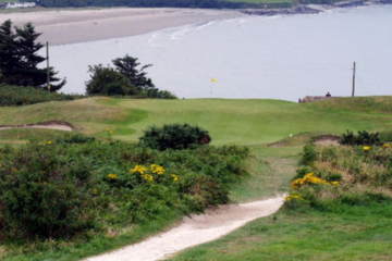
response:
<path id="1" fill-rule="evenodd" d="M 146 34 L 167 27 L 207 23 L 243 15 L 237 11 L 200 9 L 83 9 L 0 13 L 0 22 L 32 22 L 51 45 L 75 44 Z"/>

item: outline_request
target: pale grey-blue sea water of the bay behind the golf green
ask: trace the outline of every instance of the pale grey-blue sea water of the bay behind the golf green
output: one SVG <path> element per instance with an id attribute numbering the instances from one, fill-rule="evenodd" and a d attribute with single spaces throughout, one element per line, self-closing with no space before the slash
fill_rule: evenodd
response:
<path id="1" fill-rule="evenodd" d="M 125 54 L 154 64 L 156 86 L 180 98 L 350 96 L 354 61 L 356 95 L 392 95 L 392 5 L 242 16 L 51 48 L 68 78 L 62 91 L 73 94 L 85 91 L 88 65 Z"/>

